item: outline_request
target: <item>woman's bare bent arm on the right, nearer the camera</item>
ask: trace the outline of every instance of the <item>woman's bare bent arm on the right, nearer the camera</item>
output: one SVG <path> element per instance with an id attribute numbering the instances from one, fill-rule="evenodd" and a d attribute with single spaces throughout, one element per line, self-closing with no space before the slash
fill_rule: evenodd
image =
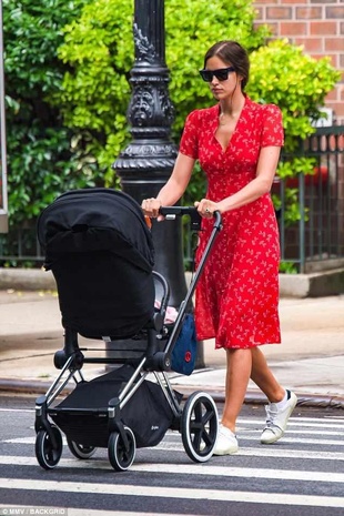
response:
<path id="1" fill-rule="evenodd" d="M 217 203 L 209 199 L 202 199 L 202 201 L 195 203 L 201 215 L 209 216 L 209 213 L 212 214 L 216 210 L 220 211 L 220 213 L 235 210 L 255 201 L 264 193 L 270 192 L 276 172 L 280 152 L 280 146 L 263 146 L 260 152 L 255 178 L 239 192 Z"/>

